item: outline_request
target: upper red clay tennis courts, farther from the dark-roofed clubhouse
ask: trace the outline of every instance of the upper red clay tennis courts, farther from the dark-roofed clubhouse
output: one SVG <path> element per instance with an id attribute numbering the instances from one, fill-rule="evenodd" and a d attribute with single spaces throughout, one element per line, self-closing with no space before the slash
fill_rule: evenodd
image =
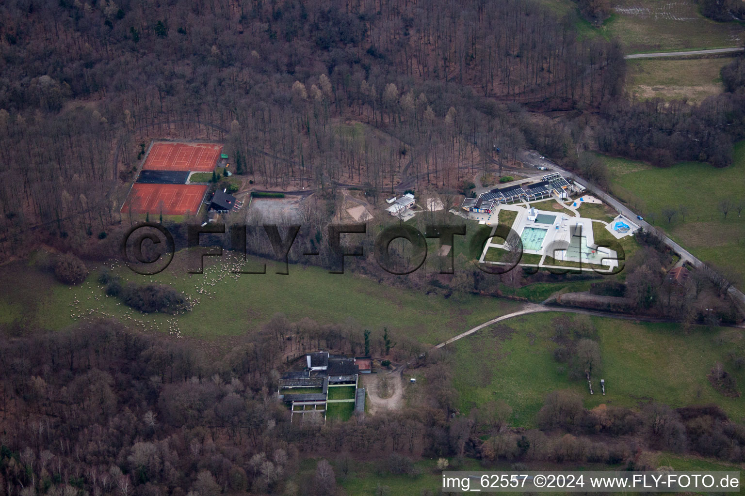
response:
<path id="1" fill-rule="evenodd" d="M 221 144 L 155 143 L 142 169 L 211 173 L 222 151 Z"/>

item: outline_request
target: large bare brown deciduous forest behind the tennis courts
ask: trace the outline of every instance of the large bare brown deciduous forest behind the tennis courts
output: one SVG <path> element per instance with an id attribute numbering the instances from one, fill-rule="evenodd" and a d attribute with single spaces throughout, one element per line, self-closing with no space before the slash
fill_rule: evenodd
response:
<path id="1" fill-rule="evenodd" d="M 529 1 L 0 10 L 5 239 L 37 224 L 98 232 L 153 135 L 226 141 L 238 172 L 270 187 L 456 187 L 484 149 L 524 145 L 527 120 L 507 103 L 597 106 L 623 72 L 618 45 L 577 41 Z M 343 121 L 394 141 L 350 139 Z"/>

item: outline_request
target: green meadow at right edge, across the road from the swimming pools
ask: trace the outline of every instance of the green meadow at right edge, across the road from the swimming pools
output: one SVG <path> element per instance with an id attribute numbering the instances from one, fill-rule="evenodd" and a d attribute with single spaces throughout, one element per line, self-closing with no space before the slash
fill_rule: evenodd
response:
<path id="1" fill-rule="evenodd" d="M 733 156 L 732 165 L 723 169 L 700 162 L 661 169 L 623 158 L 604 159 L 615 196 L 701 260 L 729 266 L 745 279 L 745 217 L 733 208 L 725 219 L 718 208 L 723 199 L 735 205 L 745 202 L 745 141 L 735 145 Z M 668 223 L 662 210 L 679 210 L 681 204 L 687 210 L 685 219 L 677 215 Z"/>

